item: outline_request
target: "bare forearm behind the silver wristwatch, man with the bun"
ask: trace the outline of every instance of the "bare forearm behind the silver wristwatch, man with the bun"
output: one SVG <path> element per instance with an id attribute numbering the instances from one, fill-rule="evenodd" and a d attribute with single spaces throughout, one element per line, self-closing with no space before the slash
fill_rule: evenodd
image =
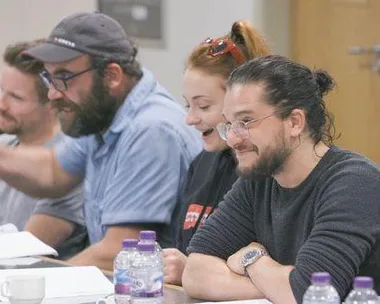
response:
<path id="1" fill-rule="evenodd" d="M 293 266 L 283 266 L 269 256 L 261 257 L 247 267 L 252 282 L 273 303 L 296 303 L 289 275 Z"/>

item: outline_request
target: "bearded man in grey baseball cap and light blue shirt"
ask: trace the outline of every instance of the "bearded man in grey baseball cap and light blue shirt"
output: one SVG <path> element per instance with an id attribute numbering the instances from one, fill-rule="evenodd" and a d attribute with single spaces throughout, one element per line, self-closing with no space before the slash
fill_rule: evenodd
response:
<path id="1" fill-rule="evenodd" d="M 0 178 L 39 197 L 84 180 L 91 246 L 70 259 L 112 269 L 125 238 L 157 231 L 171 245 L 172 212 L 202 148 L 185 112 L 136 60 L 123 28 L 101 13 L 64 18 L 23 56 L 44 62 L 42 81 L 70 139 L 55 150 L 0 149 Z"/>

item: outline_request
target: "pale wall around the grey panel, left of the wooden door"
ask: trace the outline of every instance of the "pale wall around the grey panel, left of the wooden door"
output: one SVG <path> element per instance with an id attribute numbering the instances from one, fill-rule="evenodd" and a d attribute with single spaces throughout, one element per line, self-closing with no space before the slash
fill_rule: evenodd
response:
<path id="1" fill-rule="evenodd" d="M 276 53 L 288 54 L 288 0 L 165 0 L 166 47 L 140 48 L 141 62 L 179 99 L 186 56 L 204 38 L 249 20 Z M 33 4 L 32 4 L 33 3 Z M 0 52 L 16 41 L 45 37 L 64 16 L 93 11 L 96 0 L 0 0 Z M 0 66 L 1 67 L 1 66 Z"/>

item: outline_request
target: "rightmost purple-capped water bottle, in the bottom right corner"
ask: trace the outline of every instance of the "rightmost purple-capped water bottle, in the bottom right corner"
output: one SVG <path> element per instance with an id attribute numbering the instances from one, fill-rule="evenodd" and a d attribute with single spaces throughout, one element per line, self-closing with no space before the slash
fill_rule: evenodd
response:
<path id="1" fill-rule="evenodd" d="M 378 296 L 373 290 L 373 280 L 370 277 L 356 277 L 354 289 L 347 296 L 346 304 L 378 304 Z"/>

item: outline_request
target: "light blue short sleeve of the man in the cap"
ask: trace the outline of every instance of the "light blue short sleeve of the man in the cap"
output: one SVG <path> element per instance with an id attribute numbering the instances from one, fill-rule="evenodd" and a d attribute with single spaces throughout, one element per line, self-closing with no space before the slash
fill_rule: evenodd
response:
<path id="1" fill-rule="evenodd" d="M 104 195 L 102 225 L 169 223 L 185 172 L 176 130 L 135 122 L 120 138 L 117 166 Z"/>

